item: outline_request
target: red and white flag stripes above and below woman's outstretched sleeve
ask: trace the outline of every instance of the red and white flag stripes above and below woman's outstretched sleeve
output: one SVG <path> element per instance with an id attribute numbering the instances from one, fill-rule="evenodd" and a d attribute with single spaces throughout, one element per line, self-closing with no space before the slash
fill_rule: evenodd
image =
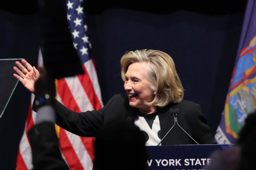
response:
<path id="1" fill-rule="evenodd" d="M 96 70 L 90 59 L 83 65 L 85 74 L 57 81 L 57 100 L 74 112 L 102 108 L 100 87 Z M 94 138 L 74 135 L 64 129 L 59 131 L 60 149 L 71 169 L 92 169 Z"/>

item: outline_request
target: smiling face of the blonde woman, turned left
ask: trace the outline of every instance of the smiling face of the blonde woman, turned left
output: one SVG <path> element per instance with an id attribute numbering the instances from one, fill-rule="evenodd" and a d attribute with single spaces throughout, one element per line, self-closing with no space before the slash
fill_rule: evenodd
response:
<path id="1" fill-rule="evenodd" d="M 150 107 L 144 101 L 152 101 L 153 91 L 146 75 L 150 69 L 150 63 L 132 63 L 125 74 L 125 90 L 129 97 L 131 107 L 138 108 L 142 113 L 147 112 Z"/>

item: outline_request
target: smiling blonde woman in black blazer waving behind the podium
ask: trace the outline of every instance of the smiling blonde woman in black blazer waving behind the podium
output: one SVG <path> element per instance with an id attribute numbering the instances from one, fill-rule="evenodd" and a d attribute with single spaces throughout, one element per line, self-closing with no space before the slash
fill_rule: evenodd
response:
<path id="1" fill-rule="evenodd" d="M 20 82 L 34 92 L 39 71 L 26 61 Z M 23 66 L 16 62 L 23 70 Z M 120 118 L 133 121 L 144 133 L 146 145 L 186 145 L 215 143 L 199 104 L 183 100 L 184 89 L 172 58 L 159 50 L 136 50 L 121 58 L 122 78 L 127 94 L 114 95 L 99 111 L 72 112 L 55 100 L 56 124 L 82 137 L 95 137 L 100 127 Z M 14 74 L 16 78 L 18 75 Z M 179 109 L 179 125 L 174 125 L 172 109 Z M 163 137 L 168 135 L 163 139 Z M 163 139 L 163 141 L 161 141 Z"/>

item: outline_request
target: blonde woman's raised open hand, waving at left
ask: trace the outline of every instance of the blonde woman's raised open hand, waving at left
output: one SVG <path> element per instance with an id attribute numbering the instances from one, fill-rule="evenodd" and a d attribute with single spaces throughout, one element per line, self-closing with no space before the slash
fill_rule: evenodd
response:
<path id="1" fill-rule="evenodd" d="M 13 74 L 15 78 L 20 80 L 24 87 L 26 87 L 29 91 L 35 92 L 34 84 L 36 80 L 38 80 L 40 73 L 38 70 L 36 70 L 35 67 L 32 67 L 30 63 L 28 63 L 26 60 L 22 59 L 22 63 L 26 68 L 22 65 L 22 63 L 16 61 L 16 65 L 19 67 L 13 67 L 13 69 L 16 71 L 17 74 Z M 20 70 L 24 70 L 23 73 Z"/>

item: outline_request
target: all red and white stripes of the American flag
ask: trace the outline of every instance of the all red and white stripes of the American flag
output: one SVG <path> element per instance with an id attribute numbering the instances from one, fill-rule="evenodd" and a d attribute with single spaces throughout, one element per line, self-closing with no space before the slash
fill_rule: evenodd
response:
<path id="1" fill-rule="evenodd" d="M 57 80 L 57 100 L 74 112 L 102 108 L 100 87 L 92 59 L 83 65 L 84 75 L 77 75 Z M 31 96 L 24 134 L 20 141 L 16 169 L 32 169 L 32 153 L 27 132 L 34 125 L 36 112 L 31 110 L 34 95 Z M 60 149 L 71 169 L 92 169 L 94 138 L 79 137 L 56 126 Z"/>

